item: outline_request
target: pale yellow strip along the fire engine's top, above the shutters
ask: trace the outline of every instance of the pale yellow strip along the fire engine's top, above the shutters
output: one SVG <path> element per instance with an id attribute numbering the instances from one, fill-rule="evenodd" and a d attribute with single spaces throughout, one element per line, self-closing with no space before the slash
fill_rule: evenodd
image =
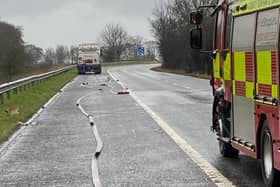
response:
<path id="1" fill-rule="evenodd" d="M 236 16 L 279 5 L 280 0 L 240 0 L 233 3 L 232 14 Z"/>

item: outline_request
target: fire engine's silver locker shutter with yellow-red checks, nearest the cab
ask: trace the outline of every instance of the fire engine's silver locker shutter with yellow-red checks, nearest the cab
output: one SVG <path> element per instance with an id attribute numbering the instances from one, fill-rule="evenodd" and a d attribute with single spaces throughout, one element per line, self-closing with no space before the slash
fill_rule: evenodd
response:
<path id="1" fill-rule="evenodd" d="M 256 13 L 233 19 L 233 136 L 255 143 L 255 25 Z"/>

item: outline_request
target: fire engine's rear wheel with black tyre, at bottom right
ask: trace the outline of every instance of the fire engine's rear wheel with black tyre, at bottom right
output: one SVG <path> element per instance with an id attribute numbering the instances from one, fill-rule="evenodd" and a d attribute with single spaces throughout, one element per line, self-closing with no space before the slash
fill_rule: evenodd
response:
<path id="1" fill-rule="evenodd" d="M 267 122 L 264 122 L 261 132 L 261 170 L 266 186 L 280 185 L 280 172 L 274 169 L 272 136 Z"/>

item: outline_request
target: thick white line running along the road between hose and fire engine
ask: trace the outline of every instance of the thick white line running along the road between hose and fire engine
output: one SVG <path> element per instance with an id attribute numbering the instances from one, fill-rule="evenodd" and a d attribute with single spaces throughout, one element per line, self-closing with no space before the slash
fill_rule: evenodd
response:
<path id="1" fill-rule="evenodd" d="M 117 80 L 114 75 L 108 70 L 108 74 Z M 126 86 L 121 82 L 118 83 L 123 87 Z M 147 112 L 152 119 L 161 127 L 162 130 L 168 134 L 172 140 L 205 172 L 205 174 L 216 184 L 218 187 L 231 187 L 235 186 L 229 181 L 221 172 L 219 172 L 212 164 L 206 161 L 202 155 L 192 148 L 182 137 L 180 137 L 175 130 L 173 130 L 163 119 L 161 119 L 153 110 L 143 103 L 131 90 L 129 90 L 132 98 Z"/>

